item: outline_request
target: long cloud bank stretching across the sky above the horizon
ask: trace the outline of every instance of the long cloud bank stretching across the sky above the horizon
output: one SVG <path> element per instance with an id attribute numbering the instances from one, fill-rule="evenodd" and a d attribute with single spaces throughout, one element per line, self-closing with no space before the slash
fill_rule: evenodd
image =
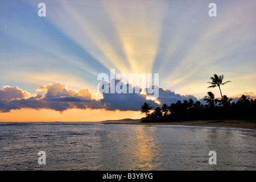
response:
<path id="1" fill-rule="evenodd" d="M 115 84 L 122 80 L 115 80 Z M 111 82 L 109 82 L 109 88 Z M 51 109 L 60 111 L 61 113 L 68 109 L 105 109 L 105 110 L 120 110 L 120 111 L 139 111 L 144 102 L 150 103 L 154 107 L 162 104 L 170 105 L 177 101 L 189 100 L 204 102 L 203 98 L 198 99 L 192 95 L 180 95 L 172 92 L 170 89 L 164 89 L 157 86 L 159 89 L 159 97 L 157 100 L 148 100 L 150 94 L 147 92 L 141 93 L 103 93 L 100 97 L 97 92 L 94 94 L 89 92 L 89 89 L 84 88 L 76 92 L 68 88 L 67 85 L 61 83 L 46 84 L 38 87 L 37 93 L 31 94 L 22 90 L 17 86 L 4 86 L 0 89 L 0 113 L 8 113 L 11 110 L 19 109 Z M 134 89 L 135 87 L 133 87 Z M 128 88 L 127 88 L 128 89 Z M 142 91 L 142 89 L 140 88 Z M 252 99 L 256 98 L 255 93 L 247 92 L 246 94 Z M 233 96 L 233 101 L 237 101 L 242 94 Z"/>

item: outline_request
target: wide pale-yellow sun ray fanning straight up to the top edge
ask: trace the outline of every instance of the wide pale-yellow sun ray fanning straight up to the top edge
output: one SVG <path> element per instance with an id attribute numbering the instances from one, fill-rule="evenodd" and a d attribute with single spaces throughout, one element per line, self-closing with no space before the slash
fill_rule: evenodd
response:
<path id="1" fill-rule="evenodd" d="M 152 72 L 162 27 L 165 3 L 122 1 L 104 3 L 118 32 L 131 73 Z M 149 11 L 150 10 L 150 11 Z"/>

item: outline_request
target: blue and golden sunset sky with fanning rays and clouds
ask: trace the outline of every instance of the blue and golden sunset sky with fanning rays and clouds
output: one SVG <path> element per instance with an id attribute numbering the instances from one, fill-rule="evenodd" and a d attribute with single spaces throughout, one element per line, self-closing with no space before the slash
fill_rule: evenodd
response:
<path id="1" fill-rule="evenodd" d="M 46 16 L 38 15 L 42 2 Z M 210 17 L 212 2 L 217 16 Z M 220 97 L 218 88 L 207 88 L 214 73 L 232 81 L 222 94 L 256 98 L 255 6 L 254 0 L 1 0 L 0 122 L 141 118 L 144 102 L 201 101 L 209 91 Z M 109 75 L 110 86 L 111 69 L 158 73 L 151 84 L 159 97 L 99 93 L 98 75 Z"/>

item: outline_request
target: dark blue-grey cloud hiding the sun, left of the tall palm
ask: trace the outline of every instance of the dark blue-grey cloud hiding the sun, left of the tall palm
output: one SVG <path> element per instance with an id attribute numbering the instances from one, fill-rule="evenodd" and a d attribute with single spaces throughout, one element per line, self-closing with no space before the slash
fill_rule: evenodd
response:
<path id="1" fill-rule="evenodd" d="M 101 103 L 104 104 L 104 108 L 107 110 L 134 110 L 138 111 L 141 109 L 141 105 L 144 102 L 151 104 L 154 108 L 159 107 L 162 104 L 166 103 L 170 105 L 171 103 L 176 103 L 177 101 L 188 100 L 192 98 L 193 101 L 198 101 L 195 96 L 192 95 L 185 95 L 181 96 L 180 94 L 175 94 L 170 89 L 164 89 L 159 85 L 149 85 L 148 87 L 143 89 L 139 88 L 139 92 L 142 93 L 135 93 L 135 87 L 131 86 L 130 84 L 125 84 L 121 79 L 112 80 L 112 82 L 104 81 L 106 85 L 108 85 L 108 92 L 103 93 L 104 98 L 101 100 Z M 102 82 L 103 83 L 103 82 Z M 115 83 L 115 88 L 119 88 L 118 85 L 122 85 L 122 90 L 126 93 L 110 93 L 110 85 Z M 129 88 L 132 88 L 133 92 L 129 93 Z M 149 92 L 149 90 L 151 92 Z M 152 96 L 155 93 L 152 93 L 152 90 L 157 93 L 158 98 L 154 98 Z"/>

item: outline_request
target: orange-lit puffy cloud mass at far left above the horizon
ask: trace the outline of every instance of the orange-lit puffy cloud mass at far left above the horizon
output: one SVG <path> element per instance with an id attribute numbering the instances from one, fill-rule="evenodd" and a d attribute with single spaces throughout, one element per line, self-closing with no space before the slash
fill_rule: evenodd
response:
<path id="1" fill-rule="evenodd" d="M 80 89 L 76 92 L 68 89 L 66 85 L 57 83 L 40 86 L 36 91 L 39 93 L 32 95 L 17 87 L 4 86 L 4 90 L 0 90 L 0 112 L 23 108 L 52 109 L 60 112 L 72 108 L 102 108 L 98 101 L 92 99 L 89 89 Z"/>

